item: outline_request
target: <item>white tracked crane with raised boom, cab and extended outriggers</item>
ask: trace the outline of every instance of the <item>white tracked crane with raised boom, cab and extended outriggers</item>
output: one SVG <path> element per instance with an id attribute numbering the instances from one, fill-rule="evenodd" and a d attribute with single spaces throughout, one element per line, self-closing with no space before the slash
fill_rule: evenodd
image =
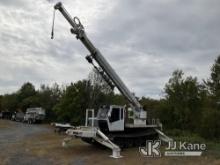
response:
<path id="1" fill-rule="evenodd" d="M 166 142 L 171 141 L 172 139 L 162 132 L 162 124 L 159 119 L 153 119 L 147 115 L 147 111 L 143 109 L 134 94 L 130 92 L 101 52 L 89 40 L 79 18 L 72 18 L 61 2 L 57 3 L 54 9 L 54 17 L 55 11 L 59 10 L 71 25 L 71 33 L 76 35 L 76 38 L 90 52 L 86 56 L 86 60 L 102 75 L 112 89 L 117 87 L 130 103 L 126 106 L 103 105 L 98 110 L 96 117 L 93 109 L 87 109 L 85 126 L 68 129 L 66 133 L 70 138 L 64 139 L 64 144 L 72 137 L 79 137 L 87 143 L 101 144 L 112 149 L 111 156 L 119 158 L 121 157 L 121 148 L 143 146 L 146 145 L 146 140 L 161 139 Z M 51 33 L 52 39 L 54 19 Z"/>

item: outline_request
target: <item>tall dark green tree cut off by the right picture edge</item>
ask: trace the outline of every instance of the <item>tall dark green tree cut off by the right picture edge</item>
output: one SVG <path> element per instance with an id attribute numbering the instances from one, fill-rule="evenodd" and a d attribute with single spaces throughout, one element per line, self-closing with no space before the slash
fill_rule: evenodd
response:
<path id="1" fill-rule="evenodd" d="M 205 138 L 220 137 L 220 56 L 211 67 L 210 78 L 204 81 L 208 95 L 203 106 L 200 133 Z"/>

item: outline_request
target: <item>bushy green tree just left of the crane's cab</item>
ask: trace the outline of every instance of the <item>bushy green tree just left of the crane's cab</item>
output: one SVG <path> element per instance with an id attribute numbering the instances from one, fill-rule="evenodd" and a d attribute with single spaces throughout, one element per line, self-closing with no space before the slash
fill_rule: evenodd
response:
<path id="1" fill-rule="evenodd" d="M 54 107 L 58 121 L 83 124 L 89 105 L 88 81 L 78 81 L 66 87 L 60 102 Z"/>

